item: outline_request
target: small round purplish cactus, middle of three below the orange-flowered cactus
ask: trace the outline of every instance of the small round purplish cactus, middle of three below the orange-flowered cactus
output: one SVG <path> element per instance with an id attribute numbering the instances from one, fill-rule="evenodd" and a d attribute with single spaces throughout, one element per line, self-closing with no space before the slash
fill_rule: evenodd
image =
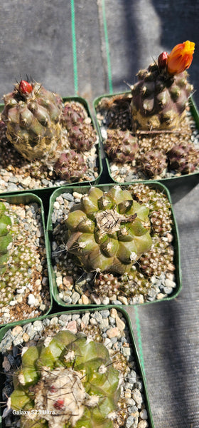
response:
<path id="1" fill-rule="evenodd" d="M 160 175 L 167 167 L 166 155 L 158 150 L 144 153 L 139 163 L 141 165 L 141 170 L 143 170 L 146 175 L 149 175 L 149 177 Z"/>

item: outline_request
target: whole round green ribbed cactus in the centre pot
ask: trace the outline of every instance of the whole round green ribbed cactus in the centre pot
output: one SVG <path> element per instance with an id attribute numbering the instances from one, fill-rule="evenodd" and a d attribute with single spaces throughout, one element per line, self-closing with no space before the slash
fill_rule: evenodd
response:
<path id="1" fill-rule="evenodd" d="M 65 220 L 68 252 L 87 272 L 129 272 L 151 248 L 148 215 L 128 190 L 91 188 Z"/>

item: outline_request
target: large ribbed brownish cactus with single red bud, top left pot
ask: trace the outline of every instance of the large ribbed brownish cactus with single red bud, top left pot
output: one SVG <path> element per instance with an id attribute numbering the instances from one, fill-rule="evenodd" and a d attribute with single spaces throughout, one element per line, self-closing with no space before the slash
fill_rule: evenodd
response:
<path id="1" fill-rule="evenodd" d="M 21 83 L 4 96 L 2 119 L 7 138 L 28 161 L 54 157 L 62 138 L 61 100 L 40 83 L 25 82 L 30 87 L 28 91 Z"/>

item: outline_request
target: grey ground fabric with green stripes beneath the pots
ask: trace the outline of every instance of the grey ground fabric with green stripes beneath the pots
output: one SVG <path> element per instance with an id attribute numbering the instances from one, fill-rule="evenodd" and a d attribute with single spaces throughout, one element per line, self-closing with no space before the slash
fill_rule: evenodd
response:
<path id="1" fill-rule="evenodd" d="M 61 96 L 86 98 L 92 108 L 95 97 L 128 90 L 139 68 L 161 51 L 190 40 L 196 46 L 189 74 L 199 105 L 198 2 L 2 0 L 0 25 L 1 98 L 30 76 Z M 105 171 L 102 183 L 107 180 Z M 181 240 L 180 295 L 127 309 L 155 428 L 199 428 L 199 185 L 189 190 L 172 193 Z"/>

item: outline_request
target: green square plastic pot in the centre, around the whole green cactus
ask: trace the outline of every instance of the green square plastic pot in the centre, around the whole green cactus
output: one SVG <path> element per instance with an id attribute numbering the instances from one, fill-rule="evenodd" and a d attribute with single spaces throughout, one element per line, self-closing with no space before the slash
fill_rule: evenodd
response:
<path id="1" fill-rule="evenodd" d="M 174 249 L 174 259 L 173 259 L 173 263 L 175 265 L 175 282 L 176 282 L 176 287 L 173 288 L 173 291 L 171 292 L 171 294 L 168 295 L 168 297 L 164 297 L 164 298 L 159 298 L 158 300 L 153 300 L 151 302 L 141 302 L 141 305 L 148 305 L 151 303 L 155 303 L 155 302 L 161 302 L 161 301 L 165 301 L 165 300 L 171 300 L 174 297 L 176 297 L 178 295 L 178 293 L 181 290 L 181 264 L 180 264 L 180 247 L 179 247 L 179 237 L 178 237 L 178 227 L 176 224 L 176 219 L 175 219 L 175 215 L 173 213 L 173 205 L 171 202 L 171 196 L 169 194 L 168 189 L 162 184 L 162 183 L 158 183 L 158 182 L 152 182 L 152 181 L 143 181 L 140 182 L 143 183 L 144 185 L 148 185 L 149 188 L 154 189 L 154 190 L 158 190 L 158 192 L 163 193 L 163 195 L 166 195 L 166 198 L 168 199 L 170 205 L 171 205 L 171 219 L 172 219 L 172 235 L 173 235 L 173 249 Z M 131 184 L 131 186 L 133 186 L 134 183 Z M 110 188 L 112 188 L 112 186 L 114 186 L 114 184 L 107 184 L 107 185 L 96 185 L 95 187 L 100 188 L 102 191 L 107 191 Z M 127 185 L 121 185 L 121 188 L 127 188 Z M 84 195 L 85 193 L 88 192 L 88 190 L 90 190 L 90 187 L 88 186 L 82 186 L 81 188 L 77 188 L 77 187 L 65 187 L 65 188 L 60 188 L 58 190 L 55 190 L 55 192 L 51 195 L 50 197 L 50 208 L 49 208 L 49 213 L 48 213 L 48 222 L 47 222 L 47 232 L 46 232 L 46 243 L 47 243 L 47 258 L 48 258 L 48 275 L 49 275 L 49 281 L 50 281 L 50 288 L 51 288 L 51 292 L 53 295 L 53 298 L 55 300 L 55 302 L 58 303 L 58 305 L 62 306 L 62 307 L 68 307 L 68 308 L 72 308 L 72 307 L 81 307 L 82 303 L 78 303 L 75 302 L 75 304 L 72 304 L 71 302 L 65 302 L 63 300 L 62 297 L 60 297 L 60 291 L 58 290 L 58 286 L 57 286 L 57 278 L 56 278 L 56 274 L 55 274 L 55 270 L 53 269 L 53 265 L 52 265 L 52 255 L 54 257 L 54 250 L 52 250 L 52 243 L 53 243 L 53 221 L 52 221 L 52 214 L 53 214 L 53 209 L 54 209 L 54 204 L 56 203 L 56 198 L 60 197 L 62 194 L 64 193 L 68 193 L 69 195 L 72 195 L 72 193 L 77 192 L 80 193 L 82 195 Z M 64 246 L 64 243 L 63 243 Z M 65 248 L 63 248 L 63 251 L 65 251 Z M 59 255 L 59 250 L 58 250 L 58 255 Z M 55 255 L 56 255 L 56 250 L 55 250 Z M 70 255 L 68 255 L 68 258 L 70 258 Z M 68 274 L 66 274 L 68 275 Z M 81 276 L 80 276 L 81 278 Z M 76 288 L 77 291 L 77 288 Z M 72 290 L 72 292 L 74 292 L 74 290 Z M 135 301 L 133 304 L 137 304 L 138 302 Z M 102 303 L 101 303 L 102 304 Z M 112 305 L 129 305 L 129 303 L 127 302 L 114 302 L 111 301 L 107 304 L 112 304 Z M 88 307 L 95 307 L 96 305 L 100 305 L 100 301 L 94 299 L 94 302 L 90 303 L 90 302 L 86 302 L 83 306 L 88 305 Z M 103 305 L 103 304 L 102 304 Z"/>

